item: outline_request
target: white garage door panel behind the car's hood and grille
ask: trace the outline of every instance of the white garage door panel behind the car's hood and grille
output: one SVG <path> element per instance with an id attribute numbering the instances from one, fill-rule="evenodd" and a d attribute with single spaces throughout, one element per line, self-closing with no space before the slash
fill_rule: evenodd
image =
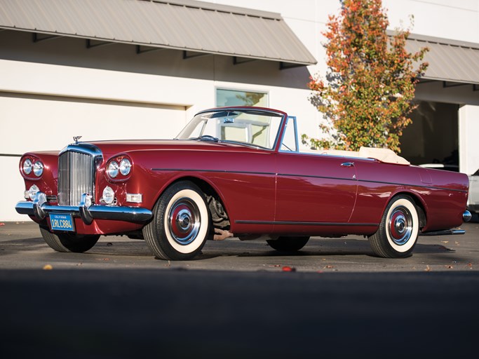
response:
<path id="1" fill-rule="evenodd" d="M 74 136 L 88 140 L 173 138 L 184 107 L 0 94 L 0 154 L 60 150 Z"/>

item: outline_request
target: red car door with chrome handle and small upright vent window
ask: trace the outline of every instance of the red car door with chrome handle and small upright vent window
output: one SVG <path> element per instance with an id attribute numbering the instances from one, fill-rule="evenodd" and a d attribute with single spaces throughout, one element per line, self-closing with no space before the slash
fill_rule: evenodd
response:
<path id="1" fill-rule="evenodd" d="M 295 118 L 288 118 L 276 154 L 276 216 L 281 224 L 349 221 L 358 183 L 353 158 L 298 152 Z"/>

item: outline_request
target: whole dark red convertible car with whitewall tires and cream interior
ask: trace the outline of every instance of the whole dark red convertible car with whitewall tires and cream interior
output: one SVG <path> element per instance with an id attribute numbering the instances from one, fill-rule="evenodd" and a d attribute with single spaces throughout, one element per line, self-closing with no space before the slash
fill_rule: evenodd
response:
<path id="1" fill-rule="evenodd" d="M 75 142 L 20 160 L 17 212 L 51 248 L 85 252 L 101 235 L 189 259 L 208 239 L 301 249 L 310 236 L 369 238 L 407 257 L 419 234 L 460 234 L 468 177 L 410 165 L 388 149 L 300 151 L 296 118 L 257 107 L 196 114 L 174 140 Z"/>

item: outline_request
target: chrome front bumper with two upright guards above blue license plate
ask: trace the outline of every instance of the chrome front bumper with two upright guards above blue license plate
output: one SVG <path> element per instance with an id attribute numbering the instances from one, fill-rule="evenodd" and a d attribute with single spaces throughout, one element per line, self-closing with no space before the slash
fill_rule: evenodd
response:
<path id="1" fill-rule="evenodd" d="M 116 207 L 114 205 L 86 205 L 88 194 L 82 194 L 80 205 L 48 205 L 46 194 L 37 192 L 32 202 L 20 201 L 15 205 L 20 215 L 35 216 L 39 220 L 45 219 L 48 213 L 65 213 L 80 217 L 85 224 L 91 224 L 93 219 L 112 219 L 126 222 L 147 222 L 153 213 L 147 208 Z"/>

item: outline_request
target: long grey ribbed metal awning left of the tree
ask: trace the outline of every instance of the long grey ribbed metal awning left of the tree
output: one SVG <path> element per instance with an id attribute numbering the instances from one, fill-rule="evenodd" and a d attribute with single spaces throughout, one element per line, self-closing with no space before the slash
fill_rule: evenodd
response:
<path id="1" fill-rule="evenodd" d="M 0 28 L 288 65 L 316 59 L 281 15 L 192 0 L 0 0 Z"/>

